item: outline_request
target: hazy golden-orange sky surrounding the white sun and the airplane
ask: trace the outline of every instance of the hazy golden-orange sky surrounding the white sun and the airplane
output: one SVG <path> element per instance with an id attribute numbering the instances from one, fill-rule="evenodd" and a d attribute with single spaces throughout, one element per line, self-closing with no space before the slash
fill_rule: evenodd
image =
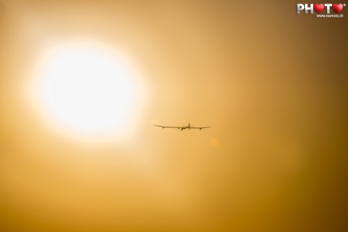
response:
<path id="1" fill-rule="evenodd" d="M 1 231 L 346 231 L 348 13 L 296 3 L 1 0 Z M 79 45 L 137 73 L 107 138 L 27 91 Z"/>

